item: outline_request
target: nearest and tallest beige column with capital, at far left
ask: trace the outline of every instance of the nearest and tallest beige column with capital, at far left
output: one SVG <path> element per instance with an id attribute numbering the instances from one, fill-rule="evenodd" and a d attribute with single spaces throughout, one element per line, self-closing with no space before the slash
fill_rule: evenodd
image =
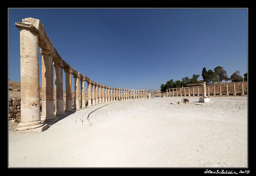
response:
<path id="1" fill-rule="evenodd" d="M 20 30 L 21 122 L 17 130 L 43 126 L 40 120 L 39 55 L 37 30 L 15 24 Z"/>

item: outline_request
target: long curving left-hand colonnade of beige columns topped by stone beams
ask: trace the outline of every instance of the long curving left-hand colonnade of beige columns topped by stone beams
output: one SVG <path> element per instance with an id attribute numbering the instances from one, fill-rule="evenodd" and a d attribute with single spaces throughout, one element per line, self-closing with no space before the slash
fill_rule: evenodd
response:
<path id="1" fill-rule="evenodd" d="M 45 33 L 43 24 L 38 19 L 25 18 L 22 19 L 22 23 L 16 22 L 15 25 L 20 30 L 21 67 L 21 122 L 17 130 L 41 127 L 45 121 L 55 122 L 57 116 L 63 116 L 67 112 L 86 106 L 147 97 L 146 90 L 102 85 L 76 71 L 60 57 Z M 40 51 L 38 46 L 41 48 Z M 42 55 L 42 110 L 40 109 L 39 92 L 39 52 Z M 63 99 L 63 70 L 66 76 L 66 109 L 64 109 Z M 55 112 L 53 76 L 56 93 Z M 74 108 L 72 107 L 72 76 L 75 80 Z M 85 104 L 85 82 L 88 88 L 87 104 Z"/>

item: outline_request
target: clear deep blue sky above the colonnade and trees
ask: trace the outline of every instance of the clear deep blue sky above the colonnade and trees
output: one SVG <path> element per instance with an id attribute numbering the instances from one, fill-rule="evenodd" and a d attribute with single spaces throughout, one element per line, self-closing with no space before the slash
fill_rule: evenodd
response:
<path id="1" fill-rule="evenodd" d="M 26 17 L 41 21 L 69 65 L 107 86 L 159 89 L 170 79 L 193 74 L 202 80 L 203 67 L 217 66 L 228 77 L 237 70 L 243 77 L 247 15 L 248 9 L 9 9 L 9 79 L 20 82 L 19 29 L 14 24 Z M 39 54 L 40 73 L 41 63 Z M 63 78 L 65 90 L 64 71 Z"/>

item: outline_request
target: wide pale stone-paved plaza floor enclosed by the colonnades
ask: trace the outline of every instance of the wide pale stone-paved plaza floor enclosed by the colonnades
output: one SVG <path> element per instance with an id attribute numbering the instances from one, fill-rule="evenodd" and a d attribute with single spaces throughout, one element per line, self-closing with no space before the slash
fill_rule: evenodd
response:
<path id="1" fill-rule="evenodd" d="M 9 167 L 247 167 L 247 96 L 182 98 L 110 101 L 43 132 L 9 131 Z"/>

